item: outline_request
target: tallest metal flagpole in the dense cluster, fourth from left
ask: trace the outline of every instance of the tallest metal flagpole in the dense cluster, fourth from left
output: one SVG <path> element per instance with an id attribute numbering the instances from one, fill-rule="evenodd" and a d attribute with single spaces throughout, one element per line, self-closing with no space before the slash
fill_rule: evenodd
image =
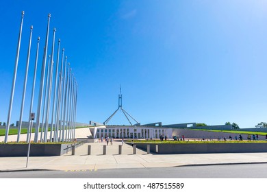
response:
<path id="1" fill-rule="evenodd" d="M 42 106 L 42 92 L 44 89 L 45 64 L 47 63 L 47 44 L 48 44 L 48 38 L 49 38 L 50 17 L 51 17 L 51 14 L 48 15 L 47 37 L 45 40 L 44 57 L 42 60 L 42 72 L 41 72 L 41 78 L 40 78 L 40 89 L 39 89 L 38 108 L 37 108 L 37 117 L 36 117 L 36 128 L 35 128 L 35 134 L 34 134 L 34 141 L 35 142 L 38 142 L 38 131 L 39 131 L 39 125 L 40 125 L 40 113 L 41 113 L 41 106 Z"/>

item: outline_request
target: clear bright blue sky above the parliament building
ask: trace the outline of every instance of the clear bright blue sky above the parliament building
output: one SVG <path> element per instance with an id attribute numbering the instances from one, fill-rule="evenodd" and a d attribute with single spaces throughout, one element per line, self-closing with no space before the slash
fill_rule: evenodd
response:
<path id="1" fill-rule="evenodd" d="M 25 11 L 11 123 L 19 119 L 34 25 L 23 120 L 27 121 L 37 37 L 42 48 L 51 13 L 79 84 L 77 121 L 103 122 L 123 108 L 141 124 L 267 121 L 266 1 L 1 1 L 0 121 L 6 122 L 21 11 Z M 55 47 L 55 50 L 57 47 Z M 110 124 L 127 124 L 123 112 Z"/>

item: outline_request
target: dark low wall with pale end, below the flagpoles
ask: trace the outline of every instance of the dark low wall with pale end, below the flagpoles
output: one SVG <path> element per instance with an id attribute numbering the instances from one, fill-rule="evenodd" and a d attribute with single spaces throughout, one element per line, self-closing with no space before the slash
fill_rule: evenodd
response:
<path id="1" fill-rule="evenodd" d="M 31 144 L 29 156 L 61 156 L 68 144 Z M 0 144 L 0 156 L 27 156 L 28 144 Z"/>

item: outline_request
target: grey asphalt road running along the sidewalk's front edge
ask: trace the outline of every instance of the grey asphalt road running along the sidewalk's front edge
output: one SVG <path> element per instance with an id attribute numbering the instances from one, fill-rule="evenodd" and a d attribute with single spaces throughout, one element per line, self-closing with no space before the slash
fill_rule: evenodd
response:
<path id="1" fill-rule="evenodd" d="M 0 178 L 267 178 L 267 164 L 0 172 Z"/>

